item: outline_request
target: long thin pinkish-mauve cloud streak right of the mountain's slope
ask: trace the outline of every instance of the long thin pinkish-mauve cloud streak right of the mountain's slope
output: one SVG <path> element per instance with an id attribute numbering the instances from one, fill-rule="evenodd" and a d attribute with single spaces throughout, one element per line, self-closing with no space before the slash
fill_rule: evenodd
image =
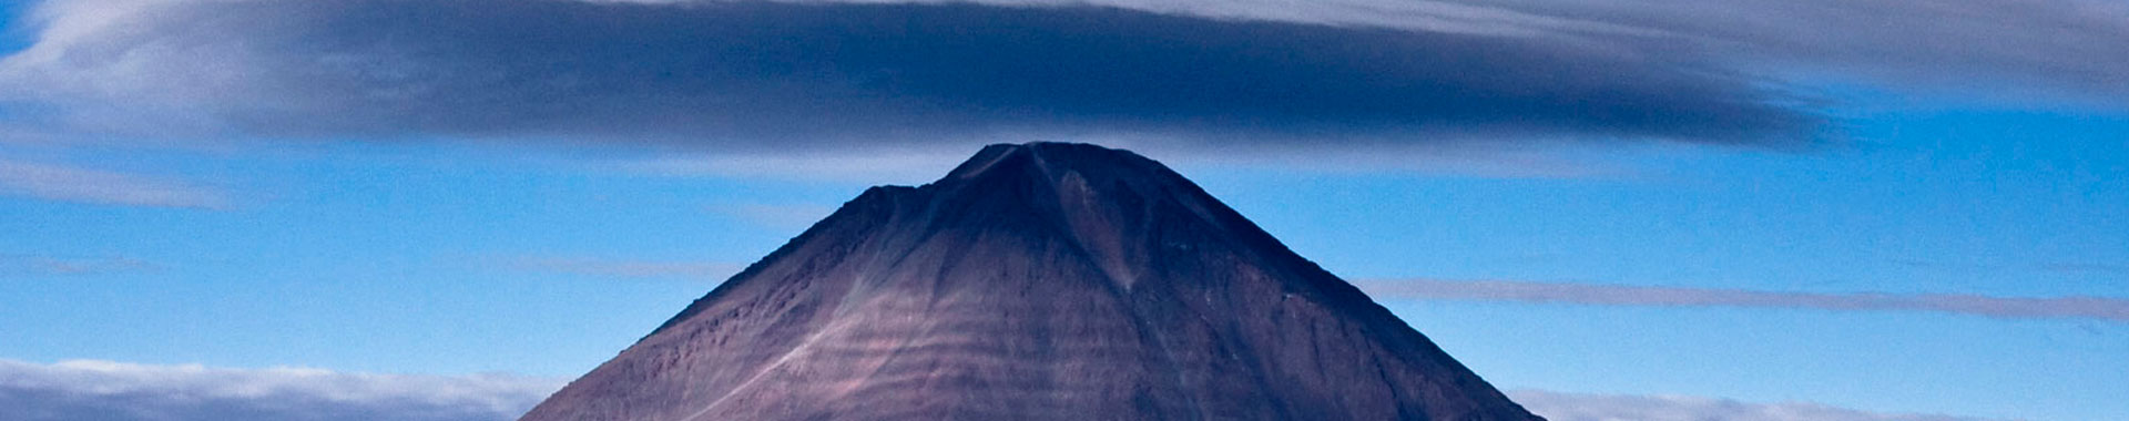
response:
<path id="1" fill-rule="evenodd" d="M 2129 300 L 2120 298 L 1993 298 L 1969 293 L 1784 293 L 1699 287 L 1633 287 L 1526 281 L 1356 281 L 1380 300 L 1484 300 L 1592 306 L 1750 306 L 1814 310 L 1920 310 L 1997 319 L 2097 319 L 2129 323 Z"/>

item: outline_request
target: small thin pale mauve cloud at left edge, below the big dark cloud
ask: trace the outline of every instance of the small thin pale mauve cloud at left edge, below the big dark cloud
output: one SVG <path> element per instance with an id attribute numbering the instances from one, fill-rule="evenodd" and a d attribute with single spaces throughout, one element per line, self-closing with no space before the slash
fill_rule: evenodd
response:
<path id="1" fill-rule="evenodd" d="M 11 159 L 0 159 L 0 196 L 158 208 L 230 206 L 228 193 L 183 181 Z"/>

